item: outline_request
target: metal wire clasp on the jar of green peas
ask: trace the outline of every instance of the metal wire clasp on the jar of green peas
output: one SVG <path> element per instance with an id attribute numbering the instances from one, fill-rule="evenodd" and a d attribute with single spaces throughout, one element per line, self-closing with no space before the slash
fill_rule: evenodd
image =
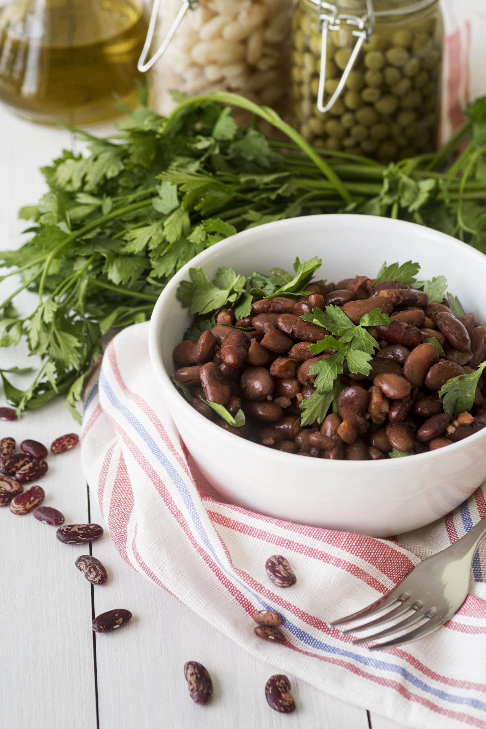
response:
<path id="1" fill-rule="evenodd" d="M 317 97 L 317 108 L 319 112 L 325 114 L 332 109 L 337 98 L 340 97 L 345 83 L 348 80 L 348 76 L 353 69 L 353 66 L 358 58 L 358 53 L 361 50 L 362 45 L 365 41 L 369 42 L 373 31 L 375 30 L 375 10 L 373 8 L 372 0 L 367 0 L 367 14 L 363 17 L 357 17 L 356 15 L 338 15 L 337 7 L 331 3 L 319 1 L 318 5 L 318 19 L 319 28 L 321 30 L 321 72 L 319 74 L 319 90 Z M 342 77 L 337 89 L 332 94 L 331 98 L 324 104 L 324 93 L 326 85 L 326 55 L 327 55 L 327 31 L 339 31 L 341 24 L 345 23 L 348 26 L 356 26 L 357 30 L 352 31 L 353 36 L 358 39 L 353 48 L 353 52 L 350 55 L 348 64 L 345 70 L 342 72 Z"/>

